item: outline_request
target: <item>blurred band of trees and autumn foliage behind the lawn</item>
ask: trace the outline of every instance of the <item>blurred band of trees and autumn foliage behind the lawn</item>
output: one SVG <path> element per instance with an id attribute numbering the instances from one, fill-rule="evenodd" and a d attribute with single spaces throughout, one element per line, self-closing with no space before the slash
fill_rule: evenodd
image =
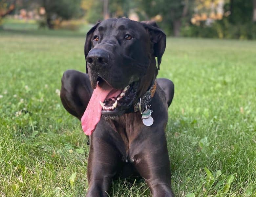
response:
<path id="1" fill-rule="evenodd" d="M 40 7 L 46 12 L 38 24 L 51 29 L 70 19 L 94 24 L 136 14 L 140 21 L 157 21 L 167 35 L 176 37 L 256 38 L 256 0 L 1 0 L 0 22 L 21 8 Z"/>

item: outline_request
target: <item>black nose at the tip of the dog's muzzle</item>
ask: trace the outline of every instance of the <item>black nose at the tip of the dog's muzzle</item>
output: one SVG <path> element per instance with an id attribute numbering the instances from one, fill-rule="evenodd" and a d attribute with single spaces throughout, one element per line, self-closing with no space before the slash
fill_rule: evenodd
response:
<path id="1" fill-rule="evenodd" d="M 96 66 L 95 69 L 104 68 L 108 63 L 108 59 L 108 53 L 103 49 L 92 49 L 86 57 L 88 66 L 90 66 L 91 68 Z"/>

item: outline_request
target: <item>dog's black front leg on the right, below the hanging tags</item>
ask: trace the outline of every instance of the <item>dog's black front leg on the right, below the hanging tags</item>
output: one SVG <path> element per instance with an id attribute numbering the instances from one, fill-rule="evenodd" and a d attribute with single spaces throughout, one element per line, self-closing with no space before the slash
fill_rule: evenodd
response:
<path id="1" fill-rule="evenodd" d="M 153 197 L 173 197 L 171 189 L 171 169 L 163 130 L 141 132 L 141 141 L 132 144 L 136 154 L 132 161 L 139 174 L 146 180 Z M 139 149 L 138 149 L 139 147 Z M 134 152 L 134 153 L 135 153 Z"/>

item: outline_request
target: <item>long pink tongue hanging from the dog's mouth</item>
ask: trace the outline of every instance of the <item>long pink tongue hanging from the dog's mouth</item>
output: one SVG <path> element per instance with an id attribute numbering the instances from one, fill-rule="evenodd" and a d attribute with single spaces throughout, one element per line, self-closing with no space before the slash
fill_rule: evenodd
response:
<path id="1" fill-rule="evenodd" d="M 96 128 L 97 123 L 100 120 L 102 107 L 99 101 L 103 103 L 105 99 L 111 98 L 112 95 L 115 95 L 115 96 L 118 95 L 119 91 L 113 92 L 112 90 L 115 90 L 115 89 L 109 86 L 105 82 L 101 85 L 101 87 L 99 87 L 97 83 L 96 89 L 93 91 L 93 95 L 88 103 L 88 106 L 84 112 L 84 115 L 81 118 L 82 129 L 86 135 L 88 136 L 92 135 L 92 133 Z"/>

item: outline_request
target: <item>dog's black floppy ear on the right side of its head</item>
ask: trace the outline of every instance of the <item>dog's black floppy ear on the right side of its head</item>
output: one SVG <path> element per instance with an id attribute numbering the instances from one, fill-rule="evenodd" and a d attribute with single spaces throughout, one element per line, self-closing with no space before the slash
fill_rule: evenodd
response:
<path id="1" fill-rule="evenodd" d="M 141 21 L 141 23 L 148 31 L 150 40 L 153 43 L 154 56 L 157 57 L 157 67 L 160 70 L 160 63 L 166 46 L 166 35 L 156 22 Z"/>

